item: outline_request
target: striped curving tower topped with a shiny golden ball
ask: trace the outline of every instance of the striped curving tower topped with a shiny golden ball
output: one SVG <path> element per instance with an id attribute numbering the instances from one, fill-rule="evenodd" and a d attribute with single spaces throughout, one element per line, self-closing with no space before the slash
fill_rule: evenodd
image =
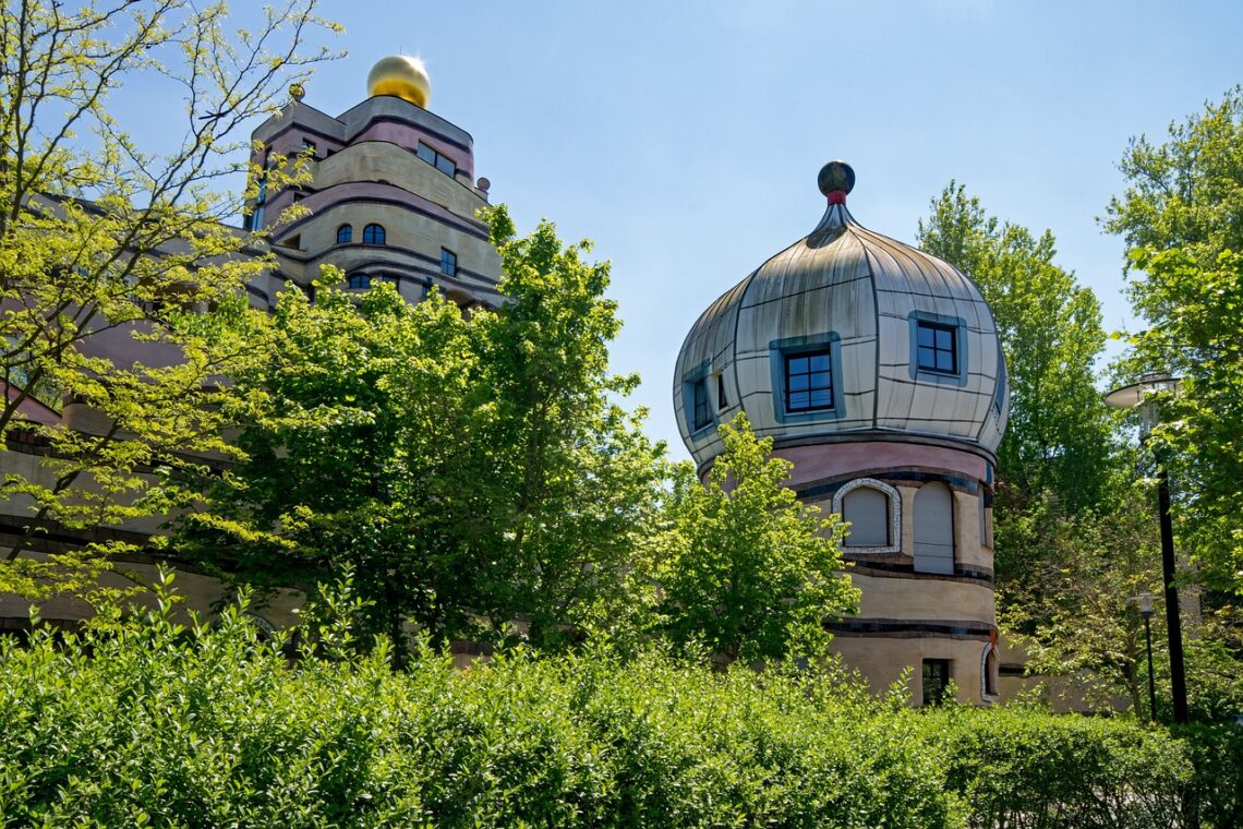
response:
<path id="1" fill-rule="evenodd" d="M 470 133 L 430 112 L 431 81 L 423 62 L 394 55 L 367 77 L 368 97 L 332 117 L 291 102 L 251 135 L 251 162 L 302 154 L 311 181 L 298 189 L 260 186 L 249 224 L 271 232 L 280 271 L 252 286 L 256 301 L 286 280 L 310 286 L 322 265 L 346 273 L 347 287 L 382 281 L 418 302 L 436 287 L 462 307 L 497 306 L 501 260 L 475 215 L 486 208 L 488 181 L 475 179 Z M 305 215 L 280 224 L 297 203 Z"/>

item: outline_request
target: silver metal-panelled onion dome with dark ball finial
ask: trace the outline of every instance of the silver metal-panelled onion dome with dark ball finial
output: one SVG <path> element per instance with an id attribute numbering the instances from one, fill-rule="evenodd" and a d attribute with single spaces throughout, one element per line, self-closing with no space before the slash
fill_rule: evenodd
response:
<path id="1" fill-rule="evenodd" d="M 674 409 L 702 465 L 746 411 L 776 447 L 855 440 L 950 445 L 996 460 L 1006 364 L 992 312 L 960 270 L 859 225 L 854 170 L 820 170 L 828 210 L 700 316 Z"/>

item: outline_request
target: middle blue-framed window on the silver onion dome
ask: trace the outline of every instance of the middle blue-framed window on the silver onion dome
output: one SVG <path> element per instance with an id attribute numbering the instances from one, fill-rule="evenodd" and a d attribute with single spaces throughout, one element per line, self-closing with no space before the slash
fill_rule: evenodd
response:
<path id="1" fill-rule="evenodd" d="M 845 416 L 840 338 L 828 332 L 768 343 L 773 414 L 779 423 Z"/>

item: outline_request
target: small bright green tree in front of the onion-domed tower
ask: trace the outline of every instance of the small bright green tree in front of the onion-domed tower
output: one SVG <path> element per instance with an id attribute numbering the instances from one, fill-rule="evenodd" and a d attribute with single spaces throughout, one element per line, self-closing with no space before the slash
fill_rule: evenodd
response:
<path id="1" fill-rule="evenodd" d="M 792 465 L 771 456 L 772 439 L 757 440 L 746 415 L 720 431 L 707 481 L 686 464 L 674 477 L 653 562 L 665 629 L 731 662 L 820 656 L 825 620 L 859 600 L 838 549 L 845 526 L 783 486 Z"/>

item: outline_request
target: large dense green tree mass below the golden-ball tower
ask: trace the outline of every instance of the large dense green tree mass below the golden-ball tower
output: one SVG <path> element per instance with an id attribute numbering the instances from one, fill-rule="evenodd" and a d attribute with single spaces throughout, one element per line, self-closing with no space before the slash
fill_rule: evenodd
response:
<path id="1" fill-rule="evenodd" d="M 551 222 L 520 239 L 503 208 L 490 221 L 496 311 L 387 285 L 281 296 L 273 358 L 236 378 L 262 401 L 246 460 L 188 518 L 186 549 L 268 585 L 348 567 L 399 649 L 408 620 L 559 648 L 641 610 L 663 446 L 613 401 L 635 380 L 608 370 L 608 265 Z"/>

